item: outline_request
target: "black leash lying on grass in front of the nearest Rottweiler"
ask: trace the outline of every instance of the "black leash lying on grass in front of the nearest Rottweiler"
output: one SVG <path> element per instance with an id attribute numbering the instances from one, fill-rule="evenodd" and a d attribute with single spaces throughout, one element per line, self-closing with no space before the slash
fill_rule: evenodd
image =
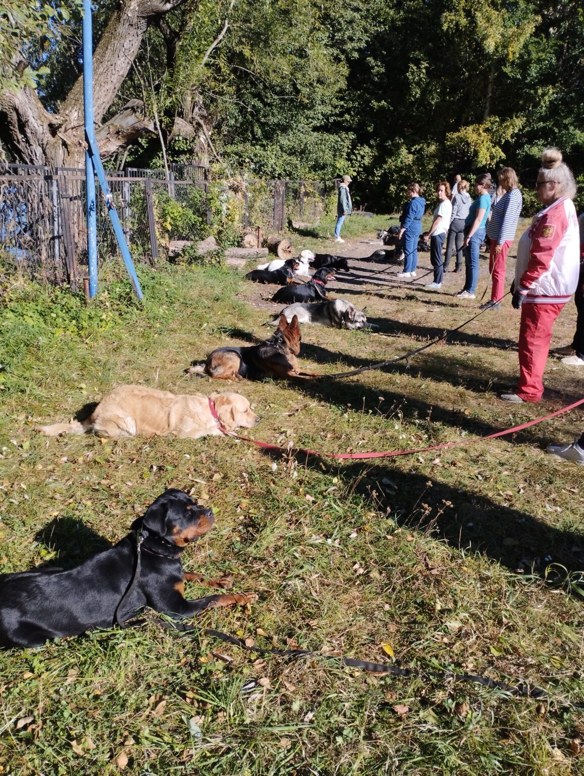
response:
<path id="1" fill-rule="evenodd" d="M 229 633 L 223 633 L 210 628 L 199 628 L 197 625 L 190 625 L 185 622 L 168 622 L 165 620 L 157 619 L 157 622 L 163 628 L 169 630 L 178 630 L 180 632 L 195 632 L 200 636 L 209 636 L 212 639 L 218 639 L 233 646 L 238 646 L 242 650 L 247 652 L 253 652 L 261 655 L 272 655 L 277 657 L 288 657 L 293 660 L 300 657 L 321 657 L 324 660 L 334 660 L 343 666 L 348 668 L 361 668 L 365 671 L 371 671 L 375 674 L 390 674 L 397 677 L 420 677 L 431 679 L 443 679 L 446 681 L 461 681 L 472 682 L 473 684 L 482 684 L 483 687 L 490 688 L 492 690 L 501 690 L 509 695 L 523 696 L 525 698 L 537 698 L 544 699 L 551 702 L 557 702 L 560 705 L 570 706 L 572 708 L 584 708 L 584 703 L 572 703 L 572 701 L 565 700 L 564 698 L 557 698 L 555 695 L 551 695 L 547 690 L 537 687 L 534 684 L 528 684 L 526 682 L 517 682 L 510 684 L 509 682 L 499 681 L 497 679 L 491 679 L 490 677 L 482 677 L 476 674 L 455 674 L 453 671 L 432 671 L 432 670 L 418 670 L 416 668 L 400 668 L 399 666 L 392 665 L 392 663 L 370 663 L 368 660 L 358 660 L 354 657 L 323 655 L 320 652 L 314 652 L 313 650 L 270 650 L 261 646 L 247 646 L 243 639 L 237 638 L 237 636 L 230 636 Z"/>

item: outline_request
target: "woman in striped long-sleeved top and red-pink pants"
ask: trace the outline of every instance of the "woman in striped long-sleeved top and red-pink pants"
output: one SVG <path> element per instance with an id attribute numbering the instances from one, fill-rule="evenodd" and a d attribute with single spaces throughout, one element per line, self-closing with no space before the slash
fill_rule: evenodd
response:
<path id="1" fill-rule="evenodd" d="M 497 199 L 491 211 L 491 220 L 487 223 L 487 236 L 491 242 L 489 272 L 492 275 L 491 298 L 481 305 L 482 310 L 499 310 L 503 286 L 505 285 L 505 262 L 510 244 L 515 239 L 517 222 L 524 198 L 517 188 L 519 181 L 515 170 L 504 167 L 497 175 L 503 196 Z"/>

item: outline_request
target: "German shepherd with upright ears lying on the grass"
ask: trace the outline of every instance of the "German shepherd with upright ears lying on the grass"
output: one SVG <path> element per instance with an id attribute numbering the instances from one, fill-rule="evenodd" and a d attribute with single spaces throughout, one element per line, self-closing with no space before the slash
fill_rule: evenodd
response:
<path id="1" fill-rule="evenodd" d="M 269 339 L 247 348 L 216 348 L 209 353 L 206 362 L 185 369 L 185 374 L 209 375 L 218 380 L 314 377 L 312 372 L 302 375 L 298 372 L 296 356 L 300 352 L 301 339 L 298 316 L 292 317 L 289 323 L 285 315 L 281 315 L 278 328 Z"/>

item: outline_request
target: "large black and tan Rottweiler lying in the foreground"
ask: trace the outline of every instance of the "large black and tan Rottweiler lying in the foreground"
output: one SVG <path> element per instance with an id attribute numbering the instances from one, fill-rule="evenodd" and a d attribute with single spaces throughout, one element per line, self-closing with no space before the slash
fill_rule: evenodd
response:
<path id="1" fill-rule="evenodd" d="M 40 646 L 47 639 L 112 628 L 146 606 L 184 619 L 207 608 L 254 603 L 255 593 L 185 599 L 185 580 L 231 587 L 231 580 L 205 580 L 182 570 L 185 547 L 209 531 L 213 521 L 212 509 L 199 507 L 188 494 L 171 488 L 133 522 L 133 531 L 121 542 L 81 566 L 3 574 L 0 646 Z"/>

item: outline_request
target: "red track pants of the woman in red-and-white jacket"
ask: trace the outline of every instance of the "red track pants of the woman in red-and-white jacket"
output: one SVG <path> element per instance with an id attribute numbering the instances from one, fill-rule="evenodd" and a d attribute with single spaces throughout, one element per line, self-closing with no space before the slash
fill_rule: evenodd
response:
<path id="1" fill-rule="evenodd" d="M 550 349 L 551 327 L 565 302 L 521 305 L 519 330 L 519 382 L 515 393 L 524 401 L 540 401 L 544 393 L 545 362 Z"/>

